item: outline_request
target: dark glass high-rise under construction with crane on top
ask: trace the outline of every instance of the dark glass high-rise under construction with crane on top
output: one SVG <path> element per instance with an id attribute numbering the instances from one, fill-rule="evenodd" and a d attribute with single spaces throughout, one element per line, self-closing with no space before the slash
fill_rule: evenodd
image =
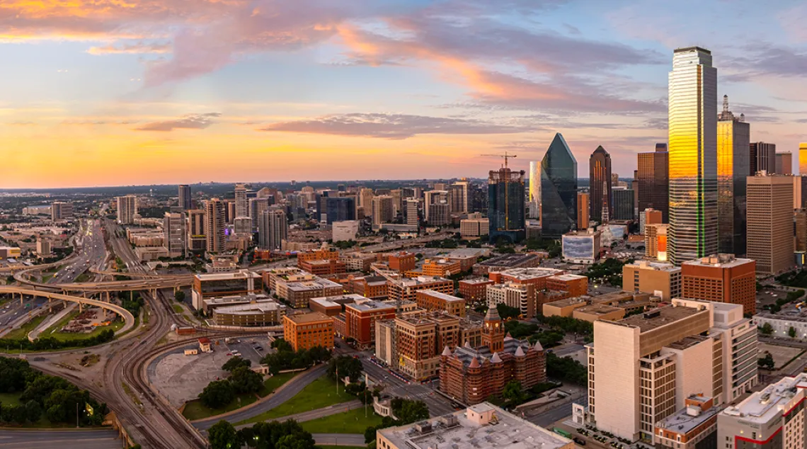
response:
<path id="1" fill-rule="evenodd" d="M 491 170 L 488 174 L 487 220 L 491 243 L 499 237 L 512 242 L 525 237 L 524 175 L 524 170 L 510 170 L 506 158 L 503 168 Z"/>

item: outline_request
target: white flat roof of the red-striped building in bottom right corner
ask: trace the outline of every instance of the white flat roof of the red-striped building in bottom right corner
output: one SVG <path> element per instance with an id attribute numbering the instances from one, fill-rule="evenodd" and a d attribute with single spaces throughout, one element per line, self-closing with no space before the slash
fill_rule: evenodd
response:
<path id="1" fill-rule="evenodd" d="M 804 388 L 807 388 L 807 374 L 785 377 L 776 384 L 768 385 L 761 392 L 751 393 L 750 397 L 746 397 L 738 405 L 726 407 L 721 414 L 766 424 L 771 419 L 781 419 L 782 413 L 788 411 L 788 403 L 797 394 L 803 394 L 799 390 Z"/>

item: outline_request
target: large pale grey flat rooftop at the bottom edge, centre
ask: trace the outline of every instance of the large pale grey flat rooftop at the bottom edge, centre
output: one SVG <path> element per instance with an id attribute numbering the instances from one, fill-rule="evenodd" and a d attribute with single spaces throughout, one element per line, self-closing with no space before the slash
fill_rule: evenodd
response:
<path id="1" fill-rule="evenodd" d="M 471 421 L 467 410 L 427 422 L 378 430 L 395 447 L 407 449 L 560 449 L 574 447 L 563 438 L 532 422 L 518 418 L 487 402 L 473 405 L 475 413 L 490 413 L 494 419 L 486 424 Z M 427 425 L 428 423 L 428 425 Z M 419 430 L 420 429 L 420 430 Z"/>

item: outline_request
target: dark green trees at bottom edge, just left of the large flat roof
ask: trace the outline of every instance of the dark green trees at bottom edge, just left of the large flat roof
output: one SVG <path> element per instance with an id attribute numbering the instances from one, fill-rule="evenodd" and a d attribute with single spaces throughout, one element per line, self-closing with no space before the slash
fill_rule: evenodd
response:
<path id="1" fill-rule="evenodd" d="M 236 430 L 221 420 L 207 430 L 211 449 L 255 447 L 257 449 L 314 449 L 312 434 L 303 430 L 293 419 L 284 422 L 258 422 L 252 427 Z"/>

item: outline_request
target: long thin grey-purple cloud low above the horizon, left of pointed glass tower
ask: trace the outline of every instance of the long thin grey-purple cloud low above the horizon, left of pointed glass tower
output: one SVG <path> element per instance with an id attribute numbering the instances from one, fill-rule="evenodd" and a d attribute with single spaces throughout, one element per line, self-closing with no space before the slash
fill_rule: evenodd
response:
<path id="1" fill-rule="evenodd" d="M 535 131 L 536 129 L 528 124 L 494 124 L 481 120 L 448 119 L 424 115 L 353 113 L 280 122 L 260 128 L 260 131 L 400 140 L 420 134 L 508 134 Z"/>

